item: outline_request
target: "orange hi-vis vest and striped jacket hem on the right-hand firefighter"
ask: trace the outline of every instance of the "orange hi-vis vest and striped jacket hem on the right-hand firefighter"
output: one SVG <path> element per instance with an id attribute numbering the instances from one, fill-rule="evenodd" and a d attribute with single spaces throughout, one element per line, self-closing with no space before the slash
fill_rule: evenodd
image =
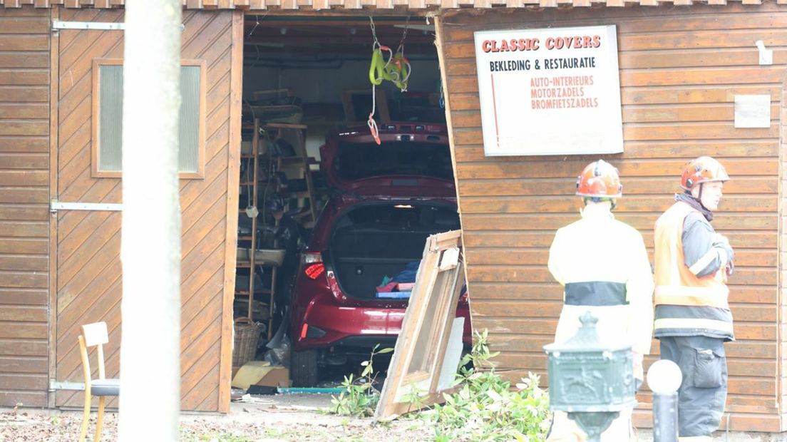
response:
<path id="1" fill-rule="evenodd" d="M 656 337 L 708 336 L 733 340 L 733 318 L 727 297 L 723 269 L 697 277 L 688 267 L 683 252 L 683 225 L 695 208 L 681 201 L 667 209 L 656 221 Z M 715 257 L 711 248 L 711 257 Z M 726 262 L 724 263 L 726 265 Z"/>

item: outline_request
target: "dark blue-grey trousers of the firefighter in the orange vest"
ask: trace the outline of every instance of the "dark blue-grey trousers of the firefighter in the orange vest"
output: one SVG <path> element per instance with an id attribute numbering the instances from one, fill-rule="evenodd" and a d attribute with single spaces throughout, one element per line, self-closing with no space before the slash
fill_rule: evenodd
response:
<path id="1" fill-rule="evenodd" d="M 718 337 L 659 337 L 661 359 L 678 364 L 678 434 L 710 436 L 719 428 L 727 399 L 727 359 Z"/>

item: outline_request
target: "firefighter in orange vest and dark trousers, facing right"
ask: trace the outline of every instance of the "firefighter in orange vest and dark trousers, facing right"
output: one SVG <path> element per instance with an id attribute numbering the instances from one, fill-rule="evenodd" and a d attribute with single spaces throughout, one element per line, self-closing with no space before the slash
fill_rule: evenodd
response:
<path id="1" fill-rule="evenodd" d="M 727 274 L 730 241 L 711 227 L 724 182 L 719 161 L 699 157 L 681 176 L 683 193 L 656 221 L 656 322 L 661 359 L 677 363 L 678 440 L 710 442 L 727 394 L 724 342 L 733 341 Z"/>

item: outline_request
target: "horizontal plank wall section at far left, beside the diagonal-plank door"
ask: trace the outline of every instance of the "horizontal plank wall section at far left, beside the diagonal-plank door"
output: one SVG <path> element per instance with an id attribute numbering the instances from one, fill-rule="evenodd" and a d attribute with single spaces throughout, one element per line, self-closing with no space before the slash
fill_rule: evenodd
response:
<path id="1" fill-rule="evenodd" d="M 0 9 L 0 406 L 46 406 L 49 11 Z"/>

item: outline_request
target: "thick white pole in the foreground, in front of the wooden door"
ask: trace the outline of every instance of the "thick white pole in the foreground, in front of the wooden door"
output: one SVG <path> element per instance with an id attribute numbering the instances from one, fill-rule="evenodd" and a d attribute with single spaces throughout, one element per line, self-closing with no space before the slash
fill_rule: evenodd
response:
<path id="1" fill-rule="evenodd" d="M 181 0 L 126 2 L 119 440 L 178 440 Z"/>

